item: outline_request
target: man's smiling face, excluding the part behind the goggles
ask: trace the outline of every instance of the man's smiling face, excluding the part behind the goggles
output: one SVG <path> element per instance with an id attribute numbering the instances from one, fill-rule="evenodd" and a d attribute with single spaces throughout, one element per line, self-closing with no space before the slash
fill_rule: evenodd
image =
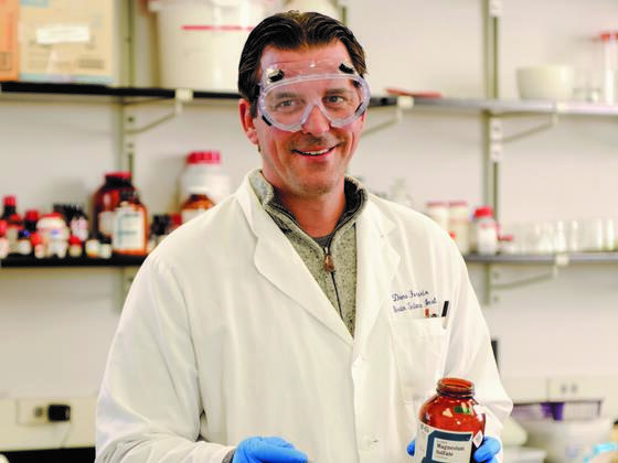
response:
<path id="1" fill-rule="evenodd" d="M 332 60 L 351 63 L 341 42 L 318 49 L 281 51 L 266 47 L 262 68 L 275 63 Z M 258 144 L 262 171 L 268 182 L 287 197 L 316 198 L 333 191 L 343 192 L 343 176 L 356 149 L 365 115 L 344 127 L 332 127 L 318 107 L 296 132 L 269 126 L 258 110 L 254 119 L 249 104 L 241 101 L 241 119 L 249 140 Z"/>

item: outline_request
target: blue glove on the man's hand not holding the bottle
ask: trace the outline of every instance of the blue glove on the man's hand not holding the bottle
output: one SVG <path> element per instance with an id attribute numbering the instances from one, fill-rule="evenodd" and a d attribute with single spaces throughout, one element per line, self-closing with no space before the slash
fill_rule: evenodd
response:
<path id="1" fill-rule="evenodd" d="M 248 438 L 238 444 L 232 463 L 307 463 L 307 455 L 281 438 Z"/>

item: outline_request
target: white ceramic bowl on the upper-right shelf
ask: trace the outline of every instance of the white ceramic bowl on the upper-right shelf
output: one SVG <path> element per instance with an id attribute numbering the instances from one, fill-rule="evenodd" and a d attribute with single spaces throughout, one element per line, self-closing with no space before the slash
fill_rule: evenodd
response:
<path id="1" fill-rule="evenodd" d="M 568 100 L 573 98 L 575 71 L 571 66 L 542 65 L 516 69 L 522 99 Z"/>

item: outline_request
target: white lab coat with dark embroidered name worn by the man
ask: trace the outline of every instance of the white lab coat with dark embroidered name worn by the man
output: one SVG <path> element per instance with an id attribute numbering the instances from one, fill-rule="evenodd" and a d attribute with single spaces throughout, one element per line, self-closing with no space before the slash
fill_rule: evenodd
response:
<path id="1" fill-rule="evenodd" d="M 278 435 L 316 463 L 409 463 L 418 409 L 444 376 L 476 384 L 499 437 L 511 401 L 452 240 L 371 195 L 356 239 L 352 338 L 247 179 L 166 238 L 111 346 L 97 462 L 221 463 L 245 438 Z M 409 309 L 445 300 L 446 327 Z"/>

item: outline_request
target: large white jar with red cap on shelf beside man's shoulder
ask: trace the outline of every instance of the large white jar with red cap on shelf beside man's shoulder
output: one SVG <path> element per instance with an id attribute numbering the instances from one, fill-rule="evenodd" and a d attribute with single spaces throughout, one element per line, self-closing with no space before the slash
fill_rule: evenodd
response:
<path id="1" fill-rule="evenodd" d="M 215 204 L 230 195 L 230 176 L 223 171 L 219 151 L 192 151 L 187 157 L 180 176 L 179 204 L 183 204 L 196 189 L 205 192 Z"/>

